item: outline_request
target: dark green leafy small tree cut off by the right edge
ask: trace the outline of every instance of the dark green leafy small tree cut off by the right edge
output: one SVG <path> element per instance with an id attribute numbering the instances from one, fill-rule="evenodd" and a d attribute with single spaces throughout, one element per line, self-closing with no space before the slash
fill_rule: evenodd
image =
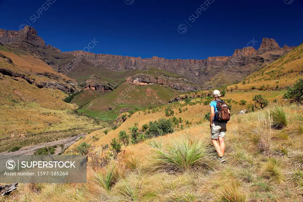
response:
<path id="1" fill-rule="evenodd" d="M 283 98 L 291 99 L 291 103 L 295 102 L 300 107 L 303 104 L 303 79 L 299 79 L 294 87 L 288 88 Z"/>

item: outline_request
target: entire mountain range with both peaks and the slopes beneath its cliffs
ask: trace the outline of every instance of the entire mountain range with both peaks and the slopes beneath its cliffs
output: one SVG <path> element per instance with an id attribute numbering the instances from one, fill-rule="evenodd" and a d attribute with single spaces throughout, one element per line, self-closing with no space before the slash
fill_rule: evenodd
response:
<path id="1" fill-rule="evenodd" d="M 258 50 L 253 47 L 236 49 L 232 56 L 208 57 L 196 59 L 164 59 L 157 56 L 152 58 L 116 56 L 95 54 L 85 51 L 61 52 L 52 45 L 46 45 L 37 35 L 37 31 L 25 26 L 20 31 L 0 29 L 0 42 L 12 52 L 30 54 L 41 59 L 55 72 L 62 73 L 78 83 L 84 82 L 84 88 L 113 90 L 121 82 L 128 80 L 138 83 L 159 83 L 177 90 L 195 91 L 207 88 L 207 82 L 215 86 L 241 81 L 245 76 L 270 64 L 285 55 L 295 47 L 284 45 L 282 48 L 274 39 L 263 38 Z M 151 76 L 146 70 L 157 69 L 156 76 Z M 131 70 L 138 74 L 130 74 L 128 78 L 119 72 Z M 175 79 L 169 73 L 178 75 Z M 219 72 L 216 76 L 213 72 Z M 145 76 L 142 76 L 142 74 Z M 92 75 L 94 75 L 92 77 Z M 159 80 L 159 81 L 158 81 Z M 163 82 L 164 80 L 164 82 Z M 177 84 L 176 84 L 177 82 Z M 70 82 L 74 85 L 77 82 Z M 181 86 L 181 87 L 180 87 Z M 195 87 L 190 87 L 195 86 Z"/>

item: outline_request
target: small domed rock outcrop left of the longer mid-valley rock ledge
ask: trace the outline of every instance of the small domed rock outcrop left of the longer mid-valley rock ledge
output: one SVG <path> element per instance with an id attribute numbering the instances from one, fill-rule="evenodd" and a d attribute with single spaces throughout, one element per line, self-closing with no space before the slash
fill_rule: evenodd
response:
<path id="1" fill-rule="evenodd" d="M 115 86 L 103 81 L 99 76 L 92 75 L 84 82 L 84 89 L 112 91 Z"/>

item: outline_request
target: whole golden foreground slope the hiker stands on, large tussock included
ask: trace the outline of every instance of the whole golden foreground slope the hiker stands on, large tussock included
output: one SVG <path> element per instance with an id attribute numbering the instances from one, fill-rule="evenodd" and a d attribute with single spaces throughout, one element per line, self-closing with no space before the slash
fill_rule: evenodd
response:
<path id="1" fill-rule="evenodd" d="M 266 109 L 232 116 L 225 138 L 225 164 L 219 163 L 212 147 L 208 147 L 208 122 L 192 124 L 184 130 L 123 148 L 117 161 L 104 168 L 89 168 L 87 184 L 38 183 L 35 184 L 39 189 L 37 194 L 34 194 L 36 188 L 20 184 L 7 200 L 301 201 L 303 119 L 302 111 L 295 108 L 272 108 L 271 114 L 281 110 L 286 115 L 286 124 L 280 130 L 271 128 Z M 138 119 L 139 115 L 127 121 L 144 123 Z M 156 113 L 144 116 L 151 120 L 159 117 Z M 273 116 L 274 122 L 278 117 Z M 267 136 L 271 137 L 269 147 L 262 141 Z M 95 149 L 102 150 L 101 145 Z M 191 161 L 185 153 L 194 157 L 203 154 L 203 157 Z M 176 161 L 168 160 L 162 167 L 166 154 Z M 112 170 L 113 178 L 108 179 L 112 181 L 106 187 L 105 173 Z"/>

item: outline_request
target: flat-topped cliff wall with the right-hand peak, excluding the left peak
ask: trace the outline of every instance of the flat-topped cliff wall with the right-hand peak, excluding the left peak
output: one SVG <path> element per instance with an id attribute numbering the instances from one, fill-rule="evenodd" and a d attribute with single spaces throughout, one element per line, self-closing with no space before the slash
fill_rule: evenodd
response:
<path id="1" fill-rule="evenodd" d="M 74 56 L 81 55 L 82 64 L 90 63 L 93 67 L 114 71 L 146 69 L 147 67 L 163 69 L 186 77 L 189 82 L 201 85 L 214 76 L 213 72 L 223 71 L 225 75 L 237 75 L 237 78 L 244 78 L 251 72 L 275 61 L 291 49 L 293 47 L 284 46 L 280 48 L 274 39 L 264 38 L 258 50 L 253 47 L 245 47 L 236 49 L 232 56 L 208 57 L 208 59 L 203 60 L 164 59 L 156 56 L 143 59 L 141 57 L 94 54 L 84 51 L 62 53 Z M 76 65 L 71 71 L 77 72 L 83 71 L 83 69 Z M 229 80 L 235 81 L 234 76 L 231 76 Z"/>

